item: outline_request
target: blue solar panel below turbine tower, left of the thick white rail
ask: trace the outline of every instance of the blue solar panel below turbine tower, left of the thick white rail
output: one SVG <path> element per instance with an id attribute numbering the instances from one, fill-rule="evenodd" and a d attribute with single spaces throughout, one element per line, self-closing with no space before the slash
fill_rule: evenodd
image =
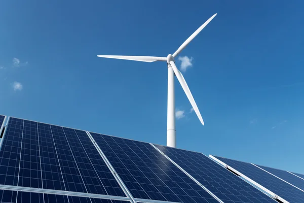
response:
<path id="1" fill-rule="evenodd" d="M 155 146 L 224 202 L 276 202 L 202 153 Z"/>

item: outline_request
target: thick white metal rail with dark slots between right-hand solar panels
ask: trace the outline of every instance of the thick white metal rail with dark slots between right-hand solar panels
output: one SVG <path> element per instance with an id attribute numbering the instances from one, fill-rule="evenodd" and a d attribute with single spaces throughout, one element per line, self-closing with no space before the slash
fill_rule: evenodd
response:
<path id="1" fill-rule="evenodd" d="M 250 184 L 254 185 L 255 187 L 258 187 L 259 189 L 261 189 L 261 191 L 264 191 L 265 194 L 269 194 L 270 197 L 272 197 L 273 199 L 278 199 L 284 203 L 289 203 L 289 201 L 283 199 L 282 197 L 280 197 L 279 195 L 275 194 L 274 192 L 270 191 L 269 189 L 261 186 L 260 184 L 258 184 L 257 182 L 255 182 L 254 180 L 248 178 L 247 176 L 245 176 L 244 174 L 240 173 L 239 171 L 235 170 L 233 167 L 225 164 L 224 162 L 222 162 L 221 160 L 215 158 L 214 156 L 212 156 L 211 154 L 209 155 L 209 157 L 219 163 L 220 165 L 222 165 L 223 167 L 225 167 L 227 170 L 232 171 L 233 173 L 238 174 L 239 176 L 241 176 L 242 178 L 244 178 L 245 180 L 247 180 Z"/>

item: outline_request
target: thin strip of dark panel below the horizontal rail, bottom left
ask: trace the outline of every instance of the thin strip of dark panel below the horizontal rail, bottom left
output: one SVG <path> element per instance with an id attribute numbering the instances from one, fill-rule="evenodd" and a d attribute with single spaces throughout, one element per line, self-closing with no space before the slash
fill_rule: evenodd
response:
<path id="1" fill-rule="evenodd" d="M 59 194 L 0 190 L 0 203 L 128 203 L 130 201 L 99 199 Z"/>

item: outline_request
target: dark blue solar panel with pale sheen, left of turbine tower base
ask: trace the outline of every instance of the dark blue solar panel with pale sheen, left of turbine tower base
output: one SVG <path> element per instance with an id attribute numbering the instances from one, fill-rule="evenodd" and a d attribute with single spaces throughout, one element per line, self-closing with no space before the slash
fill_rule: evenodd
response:
<path id="1" fill-rule="evenodd" d="M 91 134 L 135 198 L 218 203 L 150 144 Z"/>

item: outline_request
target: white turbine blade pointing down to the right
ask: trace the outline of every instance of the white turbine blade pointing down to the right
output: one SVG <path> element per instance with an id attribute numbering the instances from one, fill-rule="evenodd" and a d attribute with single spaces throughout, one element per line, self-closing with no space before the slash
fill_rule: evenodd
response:
<path id="1" fill-rule="evenodd" d="M 176 77 L 177 77 L 177 80 L 179 81 L 179 83 L 180 83 L 182 89 L 184 90 L 184 92 L 186 93 L 186 95 L 187 95 L 187 97 L 188 97 L 188 99 L 189 99 L 189 101 L 190 101 L 190 103 L 191 103 L 191 105 L 192 105 L 195 113 L 199 117 L 201 123 L 204 125 L 204 121 L 203 121 L 203 118 L 202 118 L 201 113 L 199 111 L 199 108 L 198 108 L 198 106 L 195 103 L 195 100 L 194 100 L 194 98 L 192 96 L 192 93 L 191 93 L 191 91 L 190 91 L 190 89 L 189 89 L 189 87 L 188 87 L 188 85 L 187 85 L 184 77 L 182 76 L 182 74 L 180 73 L 180 71 L 177 69 L 174 61 L 170 61 L 170 64 L 172 66 L 172 69 L 173 69 Z"/>

